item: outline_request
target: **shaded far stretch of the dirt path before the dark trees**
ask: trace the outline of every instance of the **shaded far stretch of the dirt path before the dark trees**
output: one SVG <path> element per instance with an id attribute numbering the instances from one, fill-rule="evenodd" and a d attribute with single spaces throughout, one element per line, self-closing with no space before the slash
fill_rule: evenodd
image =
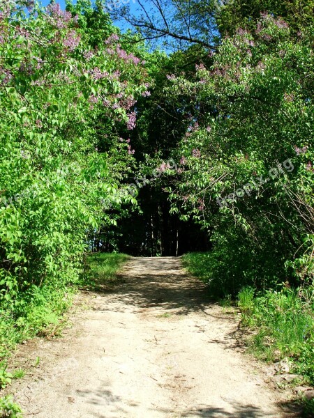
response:
<path id="1" fill-rule="evenodd" d="M 98 295 L 102 294 L 110 297 L 110 302 L 123 302 L 126 309 L 160 308 L 177 315 L 204 312 L 214 304 L 207 286 L 185 272 L 180 258 L 175 257 L 132 258 L 117 274 L 117 284 L 112 288 L 100 284 Z M 105 304 L 101 309 L 106 310 Z M 121 311 L 121 303 L 117 310 Z"/>

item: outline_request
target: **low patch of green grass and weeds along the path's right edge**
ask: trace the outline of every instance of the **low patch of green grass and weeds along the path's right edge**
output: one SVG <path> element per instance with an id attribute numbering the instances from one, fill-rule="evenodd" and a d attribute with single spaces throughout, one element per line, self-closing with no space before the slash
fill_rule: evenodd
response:
<path id="1" fill-rule="evenodd" d="M 251 341 L 255 353 L 267 360 L 290 358 L 294 370 L 313 383 L 313 299 L 304 299 L 301 291 L 284 289 L 257 295 L 249 304 L 250 309 L 246 309 L 246 304 L 239 304 L 239 307 L 244 324 L 257 330 Z"/>

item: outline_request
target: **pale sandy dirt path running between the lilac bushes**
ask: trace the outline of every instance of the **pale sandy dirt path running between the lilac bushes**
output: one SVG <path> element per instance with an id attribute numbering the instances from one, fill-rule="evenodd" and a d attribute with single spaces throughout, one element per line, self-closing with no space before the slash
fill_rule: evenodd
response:
<path id="1" fill-rule="evenodd" d="M 27 343 L 40 367 L 15 387 L 26 417 L 285 416 L 237 350 L 235 316 L 178 258 L 133 258 L 121 279 L 62 339 Z"/>

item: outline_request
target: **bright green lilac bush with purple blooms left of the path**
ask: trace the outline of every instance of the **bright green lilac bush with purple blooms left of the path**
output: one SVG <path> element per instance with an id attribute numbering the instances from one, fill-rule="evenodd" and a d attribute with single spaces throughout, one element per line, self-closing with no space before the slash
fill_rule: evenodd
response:
<path id="1" fill-rule="evenodd" d="M 90 236 L 136 203 L 117 190 L 135 166 L 124 139 L 149 79 L 99 2 L 0 3 L 1 359 L 58 326 Z"/>

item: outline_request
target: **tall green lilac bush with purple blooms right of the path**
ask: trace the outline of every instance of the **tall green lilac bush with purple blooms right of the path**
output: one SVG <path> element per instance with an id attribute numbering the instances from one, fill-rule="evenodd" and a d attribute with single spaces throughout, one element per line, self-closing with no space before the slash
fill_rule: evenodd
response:
<path id="1" fill-rule="evenodd" d="M 314 278 L 313 26 L 295 40 L 263 15 L 255 29 L 165 89 L 177 109 L 197 104 L 174 155 L 172 212 L 208 231 L 207 276 L 233 295 Z"/>

